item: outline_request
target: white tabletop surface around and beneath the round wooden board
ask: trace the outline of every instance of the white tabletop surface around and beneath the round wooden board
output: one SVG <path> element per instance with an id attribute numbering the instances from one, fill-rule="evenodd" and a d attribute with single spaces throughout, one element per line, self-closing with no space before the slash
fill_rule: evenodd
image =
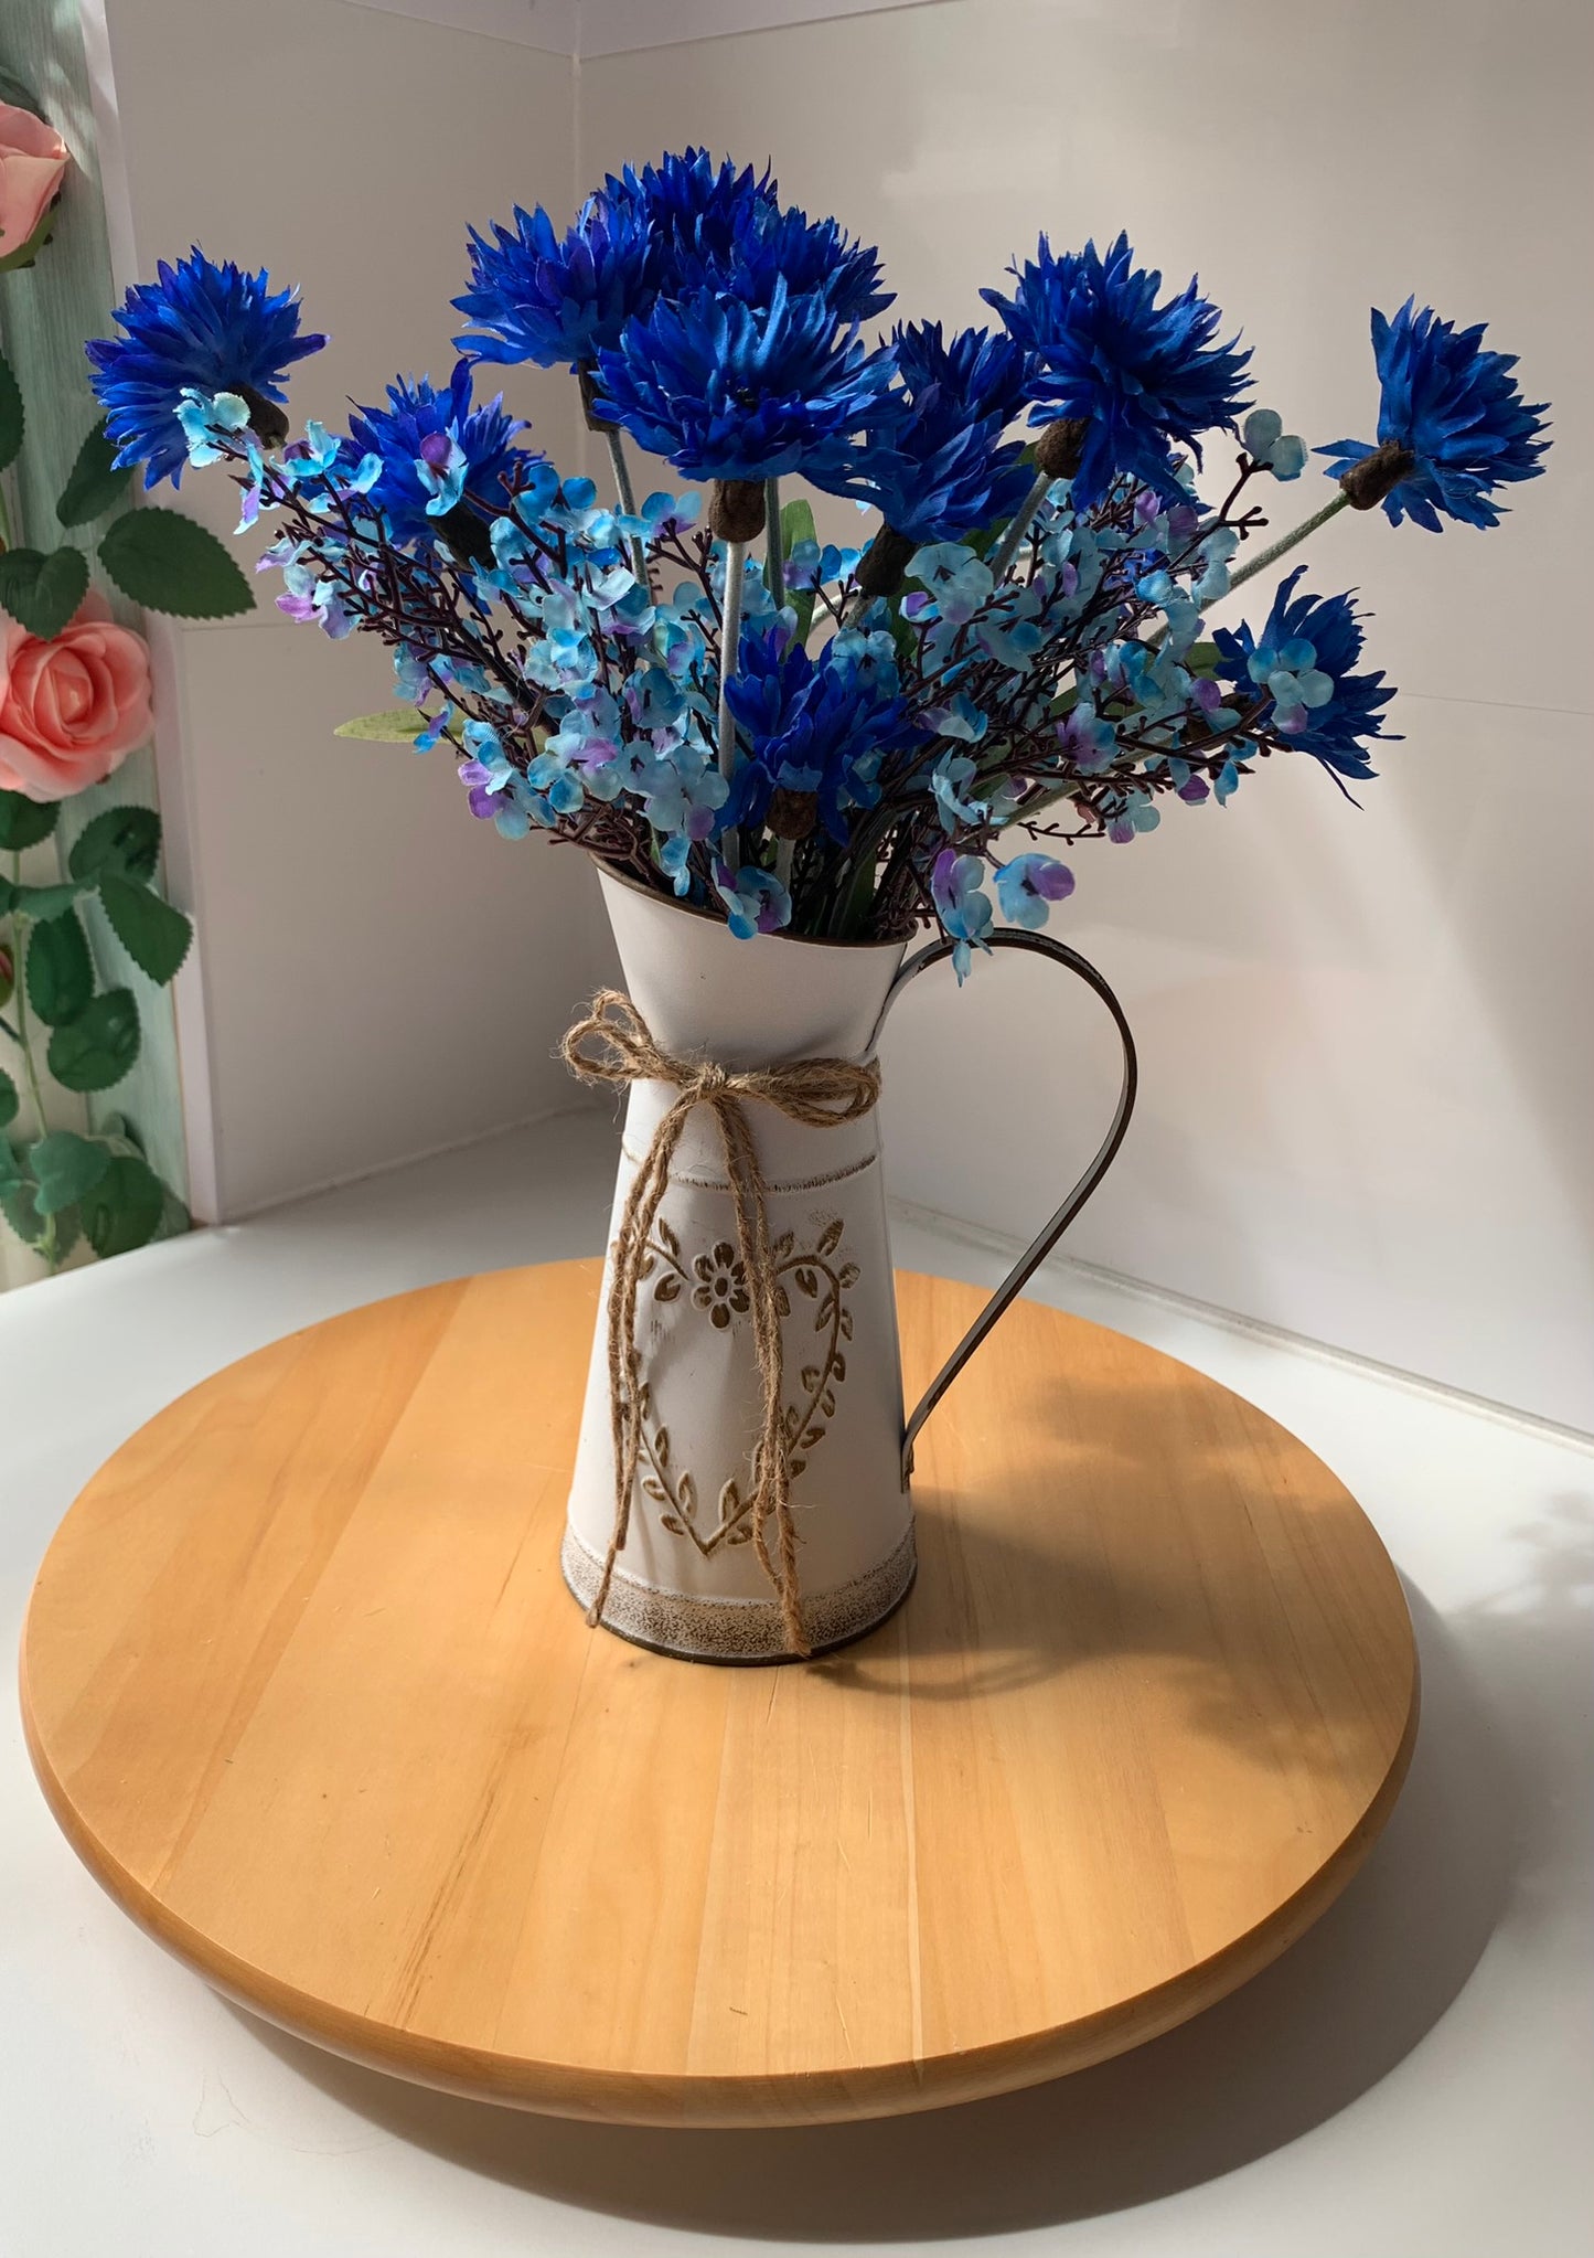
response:
<path id="1" fill-rule="evenodd" d="M 0 1624 L 99 1461 L 334 1310 L 601 1246 L 601 1115 L 0 1298 Z M 903 1224 L 899 1260 L 998 1260 Z M 1057 2258 L 1587 2258 L 1594 1456 L 1054 1264 L 1043 1298 L 1303 1436 L 1407 1578 L 1422 1730 L 1389 1831 L 1194 2023 L 1000 2102 L 628 2132 L 386 2080 L 224 2005 L 97 1890 L 0 1725 L 0 2253 L 524 2258 L 874 2247 Z"/>

